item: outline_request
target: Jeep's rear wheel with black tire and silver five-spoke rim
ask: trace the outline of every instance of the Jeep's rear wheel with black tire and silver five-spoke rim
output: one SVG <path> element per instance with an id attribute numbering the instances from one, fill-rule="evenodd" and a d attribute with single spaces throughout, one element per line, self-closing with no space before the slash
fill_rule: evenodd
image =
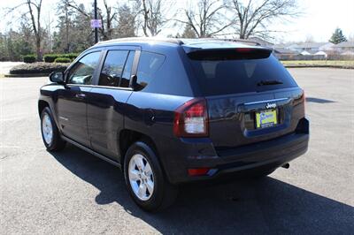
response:
<path id="1" fill-rule="evenodd" d="M 137 141 L 127 149 L 124 177 L 131 197 L 145 211 L 163 210 L 177 197 L 177 186 L 168 182 L 155 151 L 144 141 Z"/>

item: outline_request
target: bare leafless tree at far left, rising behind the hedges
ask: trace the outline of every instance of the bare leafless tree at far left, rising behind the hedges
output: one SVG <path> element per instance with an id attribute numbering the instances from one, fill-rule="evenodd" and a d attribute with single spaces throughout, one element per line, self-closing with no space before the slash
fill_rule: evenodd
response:
<path id="1" fill-rule="evenodd" d="M 26 11 L 21 17 L 29 15 L 29 21 L 31 22 L 31 27 L 33 33 L 35 34 L 35 52 L 37 55 L 37 60 L 42 61 L 42 28 L 41 28 L 41 10 L 42 10 L 42 0 L 23 0 L 23 2 L 15 7 L 8 9 L 8 13 L 19 10 L 26 6 Z"/>

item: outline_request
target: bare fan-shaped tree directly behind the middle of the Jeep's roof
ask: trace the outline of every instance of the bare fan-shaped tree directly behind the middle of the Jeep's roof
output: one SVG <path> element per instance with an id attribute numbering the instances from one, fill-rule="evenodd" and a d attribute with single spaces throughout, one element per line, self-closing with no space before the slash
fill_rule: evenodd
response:
<path id="1" fill-rule="evenodd" d="M 176 19 L 176 21 L 185 24 L 199 38 L 212 37 L 233 24 L 222 13 L 223 10 L 225 5 L 220 4 L 219 0 L 198 0 L 196 10 L 183 9 L 186 19 Z"/>

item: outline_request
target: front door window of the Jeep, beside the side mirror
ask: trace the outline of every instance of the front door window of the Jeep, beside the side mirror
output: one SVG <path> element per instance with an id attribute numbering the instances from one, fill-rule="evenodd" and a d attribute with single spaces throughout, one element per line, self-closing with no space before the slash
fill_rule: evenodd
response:
<path id="1" fill-rule="evenodd" d="M 69 84 L 91 85 L 95 69 L 99 63 L 101 51 L 89 53 L 82 57 L 68 75 Z"/>

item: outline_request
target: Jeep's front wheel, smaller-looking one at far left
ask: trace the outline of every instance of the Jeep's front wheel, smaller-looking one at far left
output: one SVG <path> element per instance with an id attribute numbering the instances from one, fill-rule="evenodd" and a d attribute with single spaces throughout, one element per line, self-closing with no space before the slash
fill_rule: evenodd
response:
<path id="1" fill-rule="evenodd" d="M 60 137 L 58 126 L 49 107 L 45 107 L 42 110 L 41 133 L 43 143 L 48 151 L 60 151 L 65 148 L 65 141 Z"/>

